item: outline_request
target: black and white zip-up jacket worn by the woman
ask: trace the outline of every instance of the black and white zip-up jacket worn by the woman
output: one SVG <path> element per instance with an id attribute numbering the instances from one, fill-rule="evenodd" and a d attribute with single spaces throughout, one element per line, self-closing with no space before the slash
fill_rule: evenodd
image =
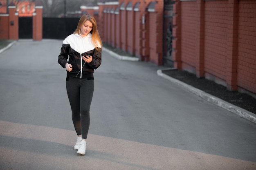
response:
<path id="1" fill-rule="evenodd" d="M 71 34 L 65 38 L 61 47 L 61 53 L 58 56 L 58 63 L 65 68 L 65 64 L 72 65 L 72 71 L 67 72 L 67 75 L 78 78 L 88 78 L 93 76 L 94 69 L 101 65 L 101 45 L 96 51 L 95 46 L 92 44 L 92 34 L 88 33 L 87 36 L 81 37 L 79 34 Z M 92 62 L 85 63 L 82 56 L 92 56 Z M 69 59 L 68 59 L 69 57 Z M 67 62 L 68 59 L 68 62 Z M 82 69 L 81 69 L 82 68 Z"/>

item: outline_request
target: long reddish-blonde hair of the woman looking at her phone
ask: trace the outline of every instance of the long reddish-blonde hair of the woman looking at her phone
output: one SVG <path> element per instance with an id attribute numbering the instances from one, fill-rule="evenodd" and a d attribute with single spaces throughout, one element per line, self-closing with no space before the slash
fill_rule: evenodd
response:
<path id="1" fill-rule="evenodd" d="M 77 24 L 76 31 L 74 31 L 74 34 L 75 33 L 78 33 L 78 34 L 80 33 L 81 26 L 87 20 L 92 22 L 92 30 L 90 31 L 90 33 L 92 34 L 92 44 L 94 45 L 95 49 L 98 51 L 99 48 L 102 46 L 102 42 L 101 42 L 101 38 L 99 36 L 99 31 L 97 29 L 97 22 L 91 14 L 86 13 L 83 16 L 81 16 L 81 18 L 80 18 L 80 20 Z"/>

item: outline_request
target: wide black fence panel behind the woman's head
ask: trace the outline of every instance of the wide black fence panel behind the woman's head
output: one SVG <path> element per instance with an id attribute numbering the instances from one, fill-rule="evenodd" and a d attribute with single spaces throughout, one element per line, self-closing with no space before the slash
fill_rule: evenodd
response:
<path id="1" fill-rule="evenodd" d="M 64 40 L 72 34 L 80 18 L 43 18 L 43 39 Z"/>

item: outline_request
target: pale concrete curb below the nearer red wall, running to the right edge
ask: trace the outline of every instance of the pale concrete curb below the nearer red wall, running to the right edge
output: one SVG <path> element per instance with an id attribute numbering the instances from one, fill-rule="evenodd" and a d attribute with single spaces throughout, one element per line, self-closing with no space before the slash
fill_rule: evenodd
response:
<path id="1" fill-rule="evenodd" d="M 164 69 L 164 70 L 171 70 L 171 68 Z M 208 102 L 210 102 L 212 104 L 215 104 L 221 108 L 229 110 L 230 112 L 235 113 L 236 115 L 239 115 L 240 117 L 243 117 L 243 118 L 245 118 L 249 121 L 252 121 L 253 123 L 256 124 L 256 115 L 252 112 L 249 112 L 243 108 L 240 108 L 231 103 L 228 103 L 218 97 L 210 95 L 209 93 L 205 93 L 204 91 L 201 91 L 198 88 L 195 88 L 188 84 L 185 84 L 185 83 L 181 82 L 180 80 L 174 79 L 173 77 L 170 77 L 170 76 L 162 73 L 162 70 L 157 70 L 157 75 L 159 75 L 165 79 L 168 79 L 172 83 L 177 84 L 178 86 L 184 88 L 185 90 L 187 90 L 195 95 L 198 95 L 199 97 L 202 97 L 203 99 L 207 100 Z"/>

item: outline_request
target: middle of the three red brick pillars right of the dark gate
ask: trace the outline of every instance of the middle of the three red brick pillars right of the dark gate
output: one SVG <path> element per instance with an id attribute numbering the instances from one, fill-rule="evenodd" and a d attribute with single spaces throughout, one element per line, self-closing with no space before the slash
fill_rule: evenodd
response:
<path id="1" fill-rule="evenodd" d="M 204 77 L 204 0 L 197 0 L 197 9 L 195 67 L 196 76 Z"/>

